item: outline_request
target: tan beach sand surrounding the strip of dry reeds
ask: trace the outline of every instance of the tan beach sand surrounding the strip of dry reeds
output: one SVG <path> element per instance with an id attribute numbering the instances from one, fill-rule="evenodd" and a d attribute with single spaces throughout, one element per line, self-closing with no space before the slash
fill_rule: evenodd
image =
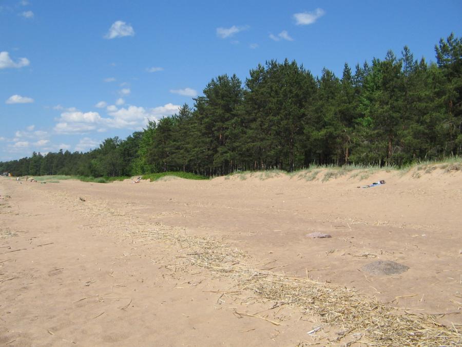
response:
<path id="1" fill-rule="evenodd" d="M 276 346 L 336 336 L 337 327 L 287 305 L 223 295 L 232 276 L 182 266 L 188 250 L 143 238 L 147 229 L 213 237 L 259 268 L 441 314 L 439 322 L 462 330 L 462 173 L 349 173 L 322 182 L 323 174 L 139 184 L 1 178 L 0 343 Z M 387 184 L 357 188 L 379 179 Z M 306 236 L 313 232 L 332 237 Z M 409 270 L 361 270 L 377 260 Z"/>

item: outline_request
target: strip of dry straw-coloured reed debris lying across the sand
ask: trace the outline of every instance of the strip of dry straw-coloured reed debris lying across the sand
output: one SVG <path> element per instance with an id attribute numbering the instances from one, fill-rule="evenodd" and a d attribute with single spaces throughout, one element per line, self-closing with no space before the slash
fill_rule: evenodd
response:
<path id="1" fill-rule="evenodd" d="M 177 245 L 188 264 L 206 268 L 233 279 L 234 292 L 252 291 L 260 298 L 288 305 L 304 314 L 317 315 L 325 324 L 339 329 L 340 339 L 359 333 L 369 345 L 460 345 L 462 336 L 437 323 L 437 315 L 400 313 L 398 309 L 364 296 L 352 289 L 320 283 L 309 278 L 290 277 L 256 269 L 246 264 L 247 256 L 239 249 L 211 238 L 199 238 L 159 229 L 139 230 L 139 238 Z M 444 314 L 442 314 L 444 315 Z M 357 336 L 357 335 L 356 335 Z"/>

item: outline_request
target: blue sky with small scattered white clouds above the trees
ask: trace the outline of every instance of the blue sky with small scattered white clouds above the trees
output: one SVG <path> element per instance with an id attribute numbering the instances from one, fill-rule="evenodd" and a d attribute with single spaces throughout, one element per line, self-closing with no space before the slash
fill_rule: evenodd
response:
<path id="1" fill-rule="evenodd" d="M 175 114 L 213 78 L 268 60 L 435 61 L 462 1 L 0 0 L 0 161 L 88 151 Z"/>

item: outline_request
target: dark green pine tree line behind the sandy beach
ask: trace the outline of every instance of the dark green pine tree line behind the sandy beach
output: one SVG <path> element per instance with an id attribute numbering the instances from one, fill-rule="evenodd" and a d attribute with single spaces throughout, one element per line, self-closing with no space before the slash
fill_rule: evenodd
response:
<path id="1" fill-rule="evenodd" d="M 131 176 L 163 171 L 223 175 L 292 171 L 311 163 L 402 166 L 462 154 L 462 39 L 435 45 L 436 63 L 405 46 L 398 58 L 344 64 L 320 77 L 275 60 L 213 78 L 177 114 L 89 152 L 33 153 L 0 162 L 14 175 Z"/>

